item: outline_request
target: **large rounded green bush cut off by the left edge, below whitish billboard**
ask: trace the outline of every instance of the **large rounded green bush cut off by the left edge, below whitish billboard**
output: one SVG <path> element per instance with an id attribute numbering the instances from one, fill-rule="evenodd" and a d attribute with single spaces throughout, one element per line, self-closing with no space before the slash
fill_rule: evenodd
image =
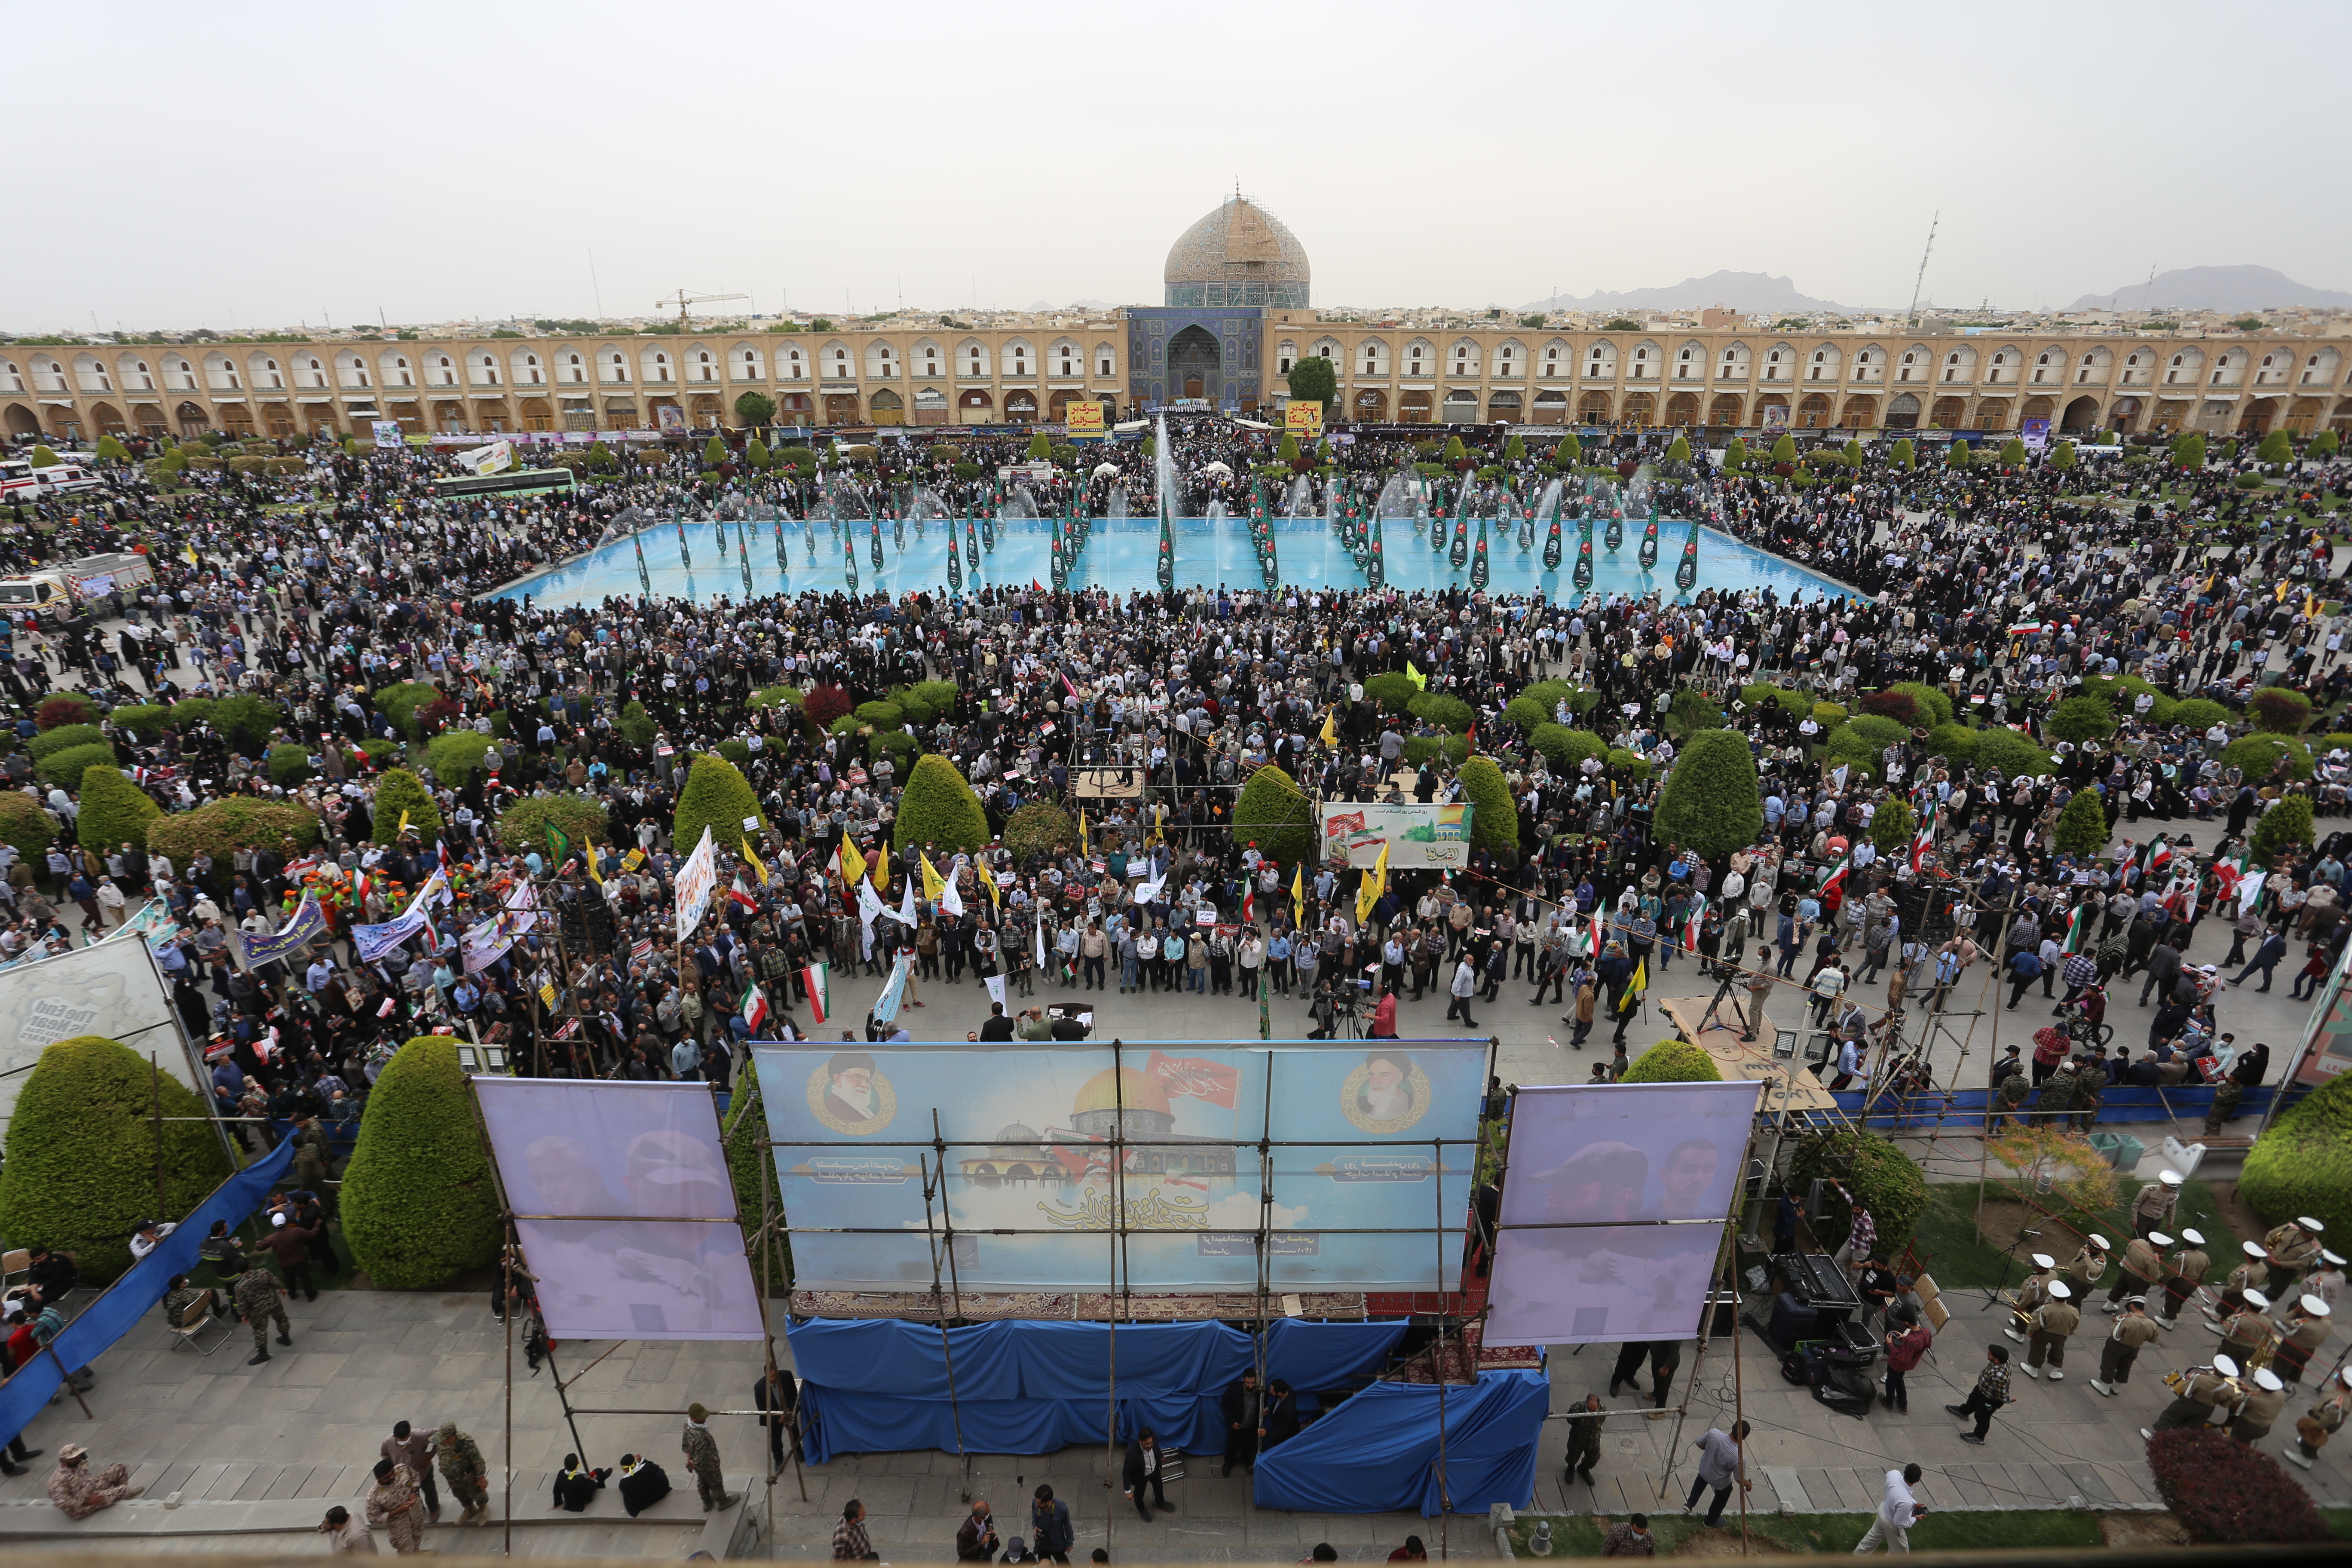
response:
<path id="1" fill-rule="evenodd" d="M 155 1197 L 155 1098 L 148 1058 L 103 1034 L 40 1053 L 16 1093 L 0 1166 L 9 1246 L 73 1251 L 87 1281 L 108 1281 L 129 1267 L 139 1220 L 181 1220 L 228 1178 L 219 1133 L 205 1121 L 165 1121 Z M 172 1074 L 160 1098 L 165 1117 L 205 1117 L 205 1103 Z"/>

